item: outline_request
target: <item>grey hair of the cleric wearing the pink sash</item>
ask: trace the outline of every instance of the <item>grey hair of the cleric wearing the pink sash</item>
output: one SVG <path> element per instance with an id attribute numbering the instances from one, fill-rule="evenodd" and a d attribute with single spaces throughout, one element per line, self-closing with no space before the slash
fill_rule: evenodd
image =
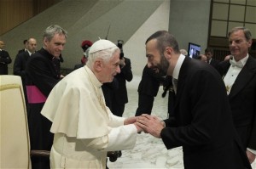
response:
<path id="1" fill-rule="evenodd" d="M 64 35 L 67 38 L 67 31 L 61 28 L 59 25 L 49 25 L 44 30 L 44 38 L 46 38 L 48 41 L 51 41 L 55 34 Z"/>

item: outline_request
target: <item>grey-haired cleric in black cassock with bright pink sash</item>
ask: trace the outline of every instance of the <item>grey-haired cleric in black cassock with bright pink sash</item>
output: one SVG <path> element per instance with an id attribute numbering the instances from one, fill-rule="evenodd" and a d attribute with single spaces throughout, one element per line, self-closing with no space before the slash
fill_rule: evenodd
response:
<path id="1" fill-rule="evenodd" d="M 59 82 L 53 59 L 61 55 L 67 31 L 59 25 L 49 25 L 44 31 L 44 47 L 32 54 L 26 65 L 26 93 L 29 104 L 28 127 L 31 149 L 50 150 L 53 134 L 51 122 L 40 114 L 51 89 Z M 32 168 L 49 168 L 49 159 L 32 156 Z"/>

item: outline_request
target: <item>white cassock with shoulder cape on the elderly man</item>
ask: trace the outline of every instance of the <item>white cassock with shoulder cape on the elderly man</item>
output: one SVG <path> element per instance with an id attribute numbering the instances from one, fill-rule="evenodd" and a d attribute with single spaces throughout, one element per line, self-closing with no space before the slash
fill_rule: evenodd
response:
<path id="1" fill-rule="evenodd" d="M 137 128 L 111 113 L 102 83 L 86 65 L 55 85 L 41 113 L 55 133 L 51 168 L 105 168 L 107 151 L 136 143 Z"/>

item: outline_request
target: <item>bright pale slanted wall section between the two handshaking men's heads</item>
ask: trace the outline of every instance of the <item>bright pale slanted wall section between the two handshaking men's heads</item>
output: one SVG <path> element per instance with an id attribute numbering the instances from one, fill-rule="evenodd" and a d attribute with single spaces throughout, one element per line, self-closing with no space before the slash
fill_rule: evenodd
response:
<path id="1" fill-rule="evenodd" d="M 145 42 L 155 31 L 166 30 L 169 26 L 170 1 L 165 0 L 154 14 L 135 31 L 124 45 L 125 57 L 131 59 L 131 69 L 134 75 L 141 76 L 147 63 Z"/>

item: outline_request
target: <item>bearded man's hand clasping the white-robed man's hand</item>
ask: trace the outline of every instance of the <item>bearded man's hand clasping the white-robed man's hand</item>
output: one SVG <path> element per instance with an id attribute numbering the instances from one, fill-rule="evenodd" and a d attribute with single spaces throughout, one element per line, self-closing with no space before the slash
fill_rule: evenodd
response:
<path id="1" fill-rule="evenodd" d="M 138 117 L 137 125 L 143 128 L 144 132 L 148 132 L 155 138 L 161 138 L 160 132 L 164 128 L 164 125 L 156 116 L 143 114 Z"/>

